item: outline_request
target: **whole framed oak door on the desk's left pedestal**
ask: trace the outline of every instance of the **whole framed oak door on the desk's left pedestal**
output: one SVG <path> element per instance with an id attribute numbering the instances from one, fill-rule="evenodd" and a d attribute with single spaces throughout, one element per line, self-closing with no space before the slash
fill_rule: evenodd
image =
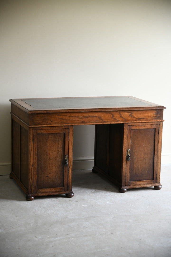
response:
<path id="1" fill-rule="evenodd" d="M 34 193 L 68 190 L 69 128 L 36 128 L 34 133 Z"/>

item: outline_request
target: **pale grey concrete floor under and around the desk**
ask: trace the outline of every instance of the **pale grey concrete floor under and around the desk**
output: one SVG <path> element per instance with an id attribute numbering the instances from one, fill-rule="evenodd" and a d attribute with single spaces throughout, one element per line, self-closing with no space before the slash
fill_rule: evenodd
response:
<path id="1" fill-rule="evenodd" d="M 73 172 L 73 198 L 25 194 L 0 177 L 1 257 L 170 257 L 171 164 L 161 190 L 118 188 L 90 170 Z"/>

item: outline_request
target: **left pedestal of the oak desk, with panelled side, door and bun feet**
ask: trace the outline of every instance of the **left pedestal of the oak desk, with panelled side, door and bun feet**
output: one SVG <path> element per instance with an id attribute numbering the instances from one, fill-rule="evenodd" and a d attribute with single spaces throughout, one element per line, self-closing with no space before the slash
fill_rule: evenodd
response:
<path id="1" fill-rule="evenodd" d="M 12 118 L 12 172 L 32 201 L 72 191 L 73 126 L 29 127 Z"/>

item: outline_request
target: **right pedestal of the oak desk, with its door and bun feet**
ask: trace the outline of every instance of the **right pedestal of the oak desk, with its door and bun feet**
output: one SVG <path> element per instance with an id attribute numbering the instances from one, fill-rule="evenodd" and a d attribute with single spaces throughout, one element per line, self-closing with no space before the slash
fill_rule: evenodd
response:
<path id="1" fill-rule="evenodd" d="M 96 125 L 93 171 L 128 188 L 161 189 L 162 122 Z"/>

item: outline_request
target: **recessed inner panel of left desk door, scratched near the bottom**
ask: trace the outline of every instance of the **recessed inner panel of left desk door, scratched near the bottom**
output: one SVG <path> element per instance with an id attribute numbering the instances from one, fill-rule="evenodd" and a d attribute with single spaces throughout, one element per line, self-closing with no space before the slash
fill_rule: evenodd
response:
<path id="1" fill-rule="evenodd" d="M 65 133 L 37 135 L 37 188 L 64 187 Z"/>

